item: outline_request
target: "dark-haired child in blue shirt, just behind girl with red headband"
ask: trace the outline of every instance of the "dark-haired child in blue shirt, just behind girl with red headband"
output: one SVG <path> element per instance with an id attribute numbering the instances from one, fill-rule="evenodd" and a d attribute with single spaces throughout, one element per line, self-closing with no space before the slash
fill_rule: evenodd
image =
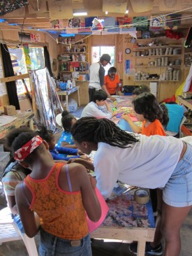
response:
<path id="1" fill-rule="evenodd" d="M 75 148 L 65 148 L 65 147 L 58 147 L 56 145 L 56 140 L 54 138 L 54 134 L 52 131 L 47 130 L 46 127 L 42 127 L 40 131 L 36 131 L 36 133 L 43 138 L 49 145 L 49 150 L 54 160 L 65 160 L 71 158 L 78 158 L 80 155 L 84 155 L 80 150 Z M 68 157 L 68 155 L 75 155 L 74 157 Z"/>

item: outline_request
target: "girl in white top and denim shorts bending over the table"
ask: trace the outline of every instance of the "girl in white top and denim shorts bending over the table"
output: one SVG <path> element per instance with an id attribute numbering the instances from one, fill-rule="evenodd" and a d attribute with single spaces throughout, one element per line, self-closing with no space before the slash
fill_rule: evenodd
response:
<path id="1" fill-rule="evenodd" d="M 82 152 L 96 150 L 97 187 L 106 199 L 117 180 L 138 187 L 162 188 L 164 255 L 179 256 L 179 230 L 192 206 L 192 146 L 172 136 L 127 133 L 107 119 L 81 118 L 71 134 Z M 158 254 L 159 243 L 161 239 L 156 238 L 152 255 L 162 254 Z"/>

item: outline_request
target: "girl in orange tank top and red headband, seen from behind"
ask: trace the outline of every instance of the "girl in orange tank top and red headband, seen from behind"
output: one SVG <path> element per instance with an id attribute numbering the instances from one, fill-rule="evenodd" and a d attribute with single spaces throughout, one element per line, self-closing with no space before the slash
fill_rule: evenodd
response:
<path id="1" fill-rule="evenodd" d="M 40 229 L 39 255 L 91 256 L 85 211 L 94 222 L 101 217 L 96 181 L 80 164 L 55 164 L 46 141 L 35 132 L 18 135 L 12 150 L 15 160 L 31 169 L 15 197 L 24 232 L 33 237 Z"/>

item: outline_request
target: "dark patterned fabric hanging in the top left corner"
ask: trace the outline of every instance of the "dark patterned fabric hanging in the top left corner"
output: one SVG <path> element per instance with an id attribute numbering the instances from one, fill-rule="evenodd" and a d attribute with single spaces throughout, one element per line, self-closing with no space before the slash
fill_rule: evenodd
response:
<path id="1" fill-rule="evenodd" d="M 10 13 L 13 10 L 17 10 L 21 7 L 27 6 L 27 4 L 28 4 L 27 0 L 1 1 L 1 3 L 0 3 L 0 15 Z"/>

